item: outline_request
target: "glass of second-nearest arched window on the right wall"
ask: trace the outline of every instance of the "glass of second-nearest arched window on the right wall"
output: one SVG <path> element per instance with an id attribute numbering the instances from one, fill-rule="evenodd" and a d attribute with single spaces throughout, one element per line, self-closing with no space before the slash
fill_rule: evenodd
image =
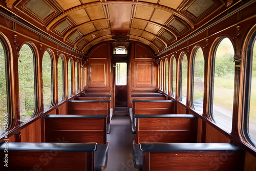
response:
<path id="1" fill-rule="evenodd" d="M 234 93 L 234 48 L 228 38 L 215 51 L 213 118 L 222 129 L 231 132 Z"/>

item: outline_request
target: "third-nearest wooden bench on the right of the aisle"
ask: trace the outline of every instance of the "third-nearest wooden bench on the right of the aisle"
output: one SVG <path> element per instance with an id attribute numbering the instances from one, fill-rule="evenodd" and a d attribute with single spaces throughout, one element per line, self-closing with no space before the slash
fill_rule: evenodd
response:
<path id="1" fill-rule="evenodd" d="M 131 117 L 131 126 L 133 134 L 136 133 L 136 119 L 134 115 L 163 115 L 175 113 L 175 101 L 173 100 L 132 100 L 133 109 Z"/>

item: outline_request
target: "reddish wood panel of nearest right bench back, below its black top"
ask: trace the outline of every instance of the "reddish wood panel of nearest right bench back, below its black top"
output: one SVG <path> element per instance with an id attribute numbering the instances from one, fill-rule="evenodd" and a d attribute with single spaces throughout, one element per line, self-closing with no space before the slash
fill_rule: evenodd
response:
<path id="1" fill-rule="evenodd" d="M 150 152 L 150 170 L 225 170 L 241 171 L 244 152 Z M 143 169 L 144 170 L 144 169 Z"/>

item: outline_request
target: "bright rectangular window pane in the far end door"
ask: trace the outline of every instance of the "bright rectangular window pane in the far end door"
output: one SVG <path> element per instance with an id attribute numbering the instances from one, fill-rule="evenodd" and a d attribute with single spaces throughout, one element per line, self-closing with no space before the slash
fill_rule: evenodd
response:
<path id="1" fill-rule="evenodd" d="M 116 63 L 116 86 L 126 86 L 127 84 L 127 63 Z"/>

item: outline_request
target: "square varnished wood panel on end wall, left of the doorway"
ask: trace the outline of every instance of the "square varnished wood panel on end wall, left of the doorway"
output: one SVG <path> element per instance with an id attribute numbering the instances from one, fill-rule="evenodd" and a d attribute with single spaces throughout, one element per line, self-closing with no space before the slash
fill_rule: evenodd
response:
<path id="1" fill-rule="evenodd" d="M 108 87 L 108 62 L 89 62 L 88 87 Z"/>

